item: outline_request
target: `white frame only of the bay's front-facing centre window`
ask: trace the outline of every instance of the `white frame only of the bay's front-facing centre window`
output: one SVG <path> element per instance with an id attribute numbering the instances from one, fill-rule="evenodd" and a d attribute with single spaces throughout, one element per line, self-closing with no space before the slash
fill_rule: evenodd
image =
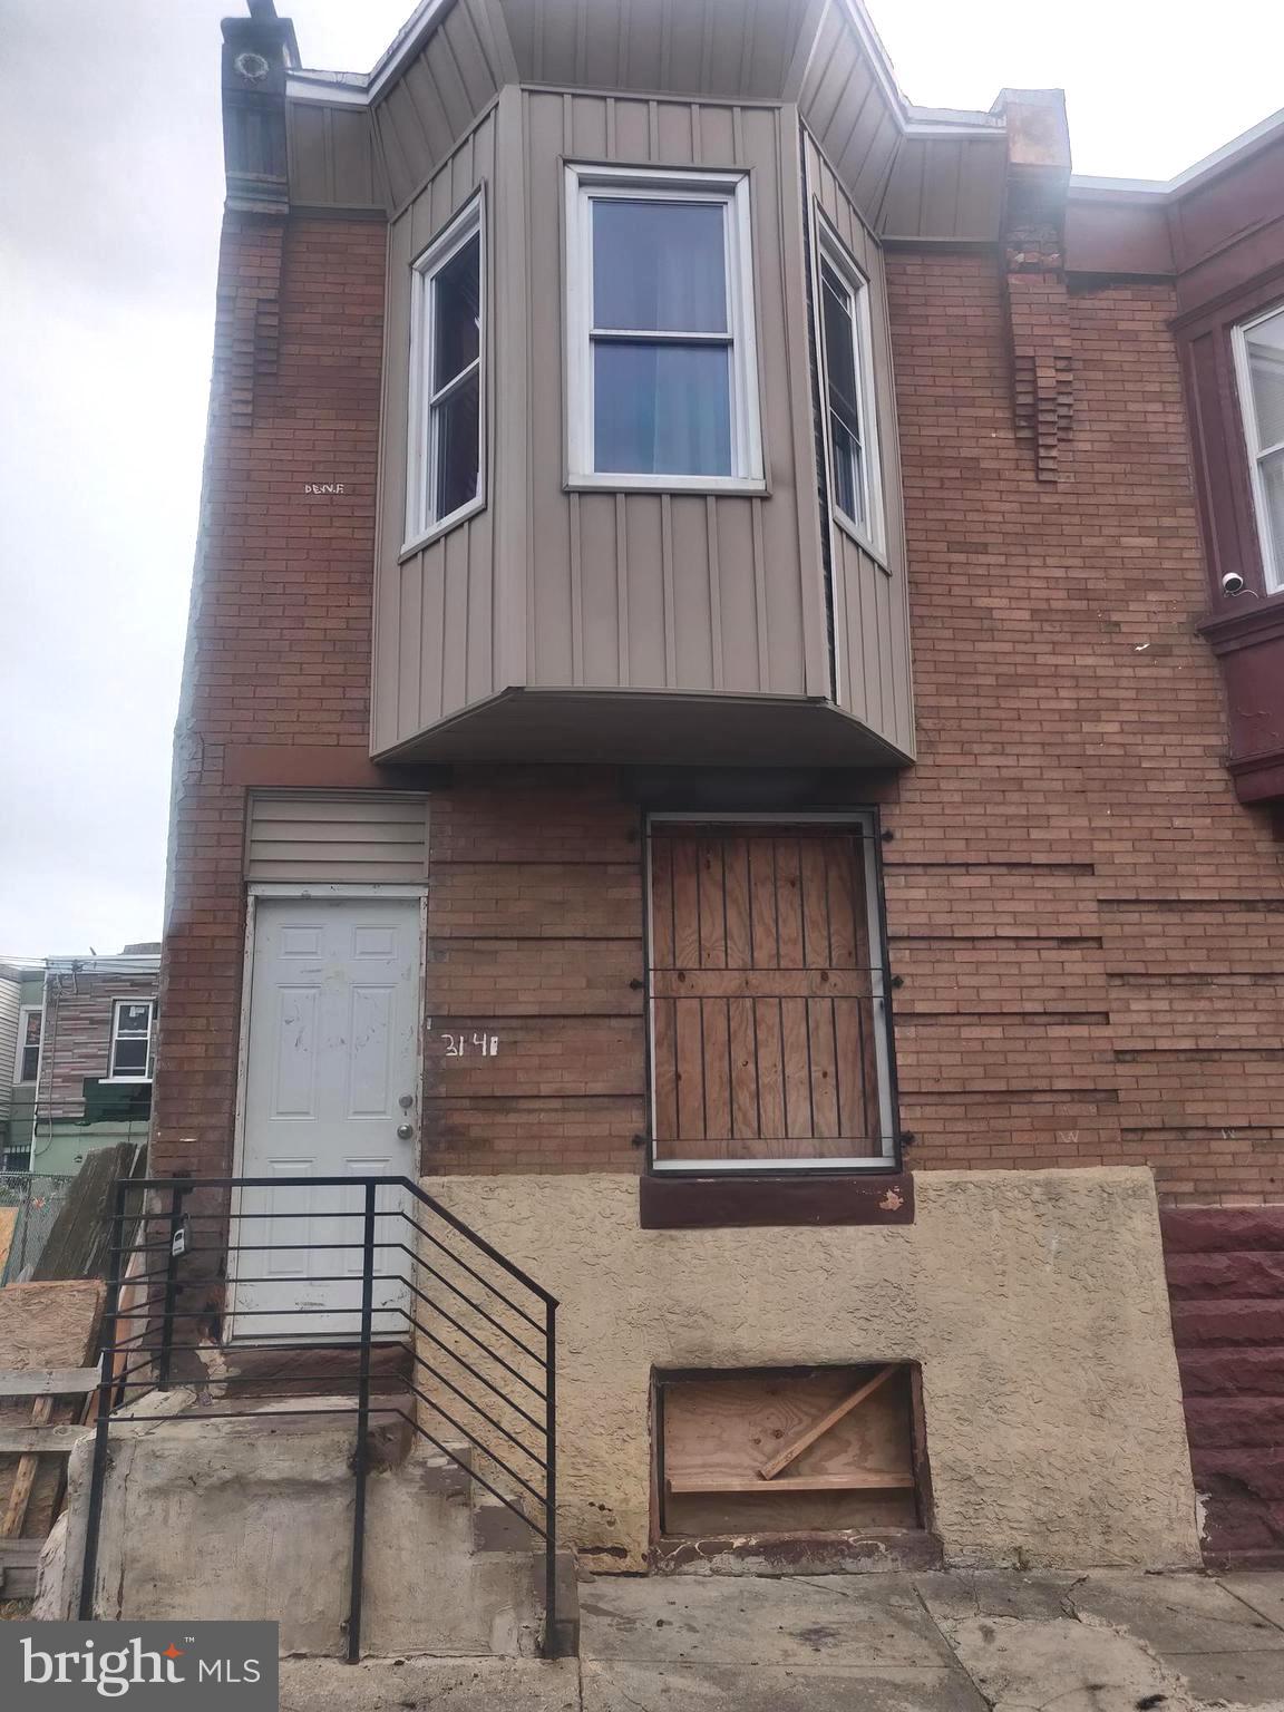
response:
<path id="1" fill-rule="evenodd" d="M 731 349 L 731 474 L 666 476 L 594 469 L 592 200 L 721 204 Z M 632 332 L 639 339 L 709 344 L 707 334 Z M 748 173 L 567 166 L 567 486 L 661 493 L 764 493 L 753 235 Z"/>

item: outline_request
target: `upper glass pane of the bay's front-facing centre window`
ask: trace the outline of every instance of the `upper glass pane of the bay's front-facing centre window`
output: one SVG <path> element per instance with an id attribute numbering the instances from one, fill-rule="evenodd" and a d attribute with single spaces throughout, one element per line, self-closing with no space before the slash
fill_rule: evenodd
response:
<path id="1" fill-rule="evenodd" d="M 592 324 L 726 332 L 721 202 L 592 200 Z"/>

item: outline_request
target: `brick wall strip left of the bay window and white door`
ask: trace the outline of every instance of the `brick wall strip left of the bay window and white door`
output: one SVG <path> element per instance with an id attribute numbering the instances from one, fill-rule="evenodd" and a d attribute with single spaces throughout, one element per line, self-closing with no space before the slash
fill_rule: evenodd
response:
<path id="1" fill-rule="evenodd" d="M 224 226 L 175 760 L 161 1174 L 231 1164 L 247 746 L 298 755 L 265 782 L 296 782 L 327 758 L 365 765 L 385 241 L 365 221 Z M 305 493 L 332 481 L 341 496 Z"/>

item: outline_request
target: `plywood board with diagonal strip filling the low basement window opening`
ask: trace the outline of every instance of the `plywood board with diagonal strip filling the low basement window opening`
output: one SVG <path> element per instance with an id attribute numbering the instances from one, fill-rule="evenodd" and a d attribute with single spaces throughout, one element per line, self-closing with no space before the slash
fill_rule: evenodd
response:
<path id="1" fill-rule="evenodd" d="M 897 1366 L 856 1407 L 789 1460 L 782 1450 L 835 1416 L 882 1363 L 793 1373 L 664 1380 L 663 1531 L 791 1532 L 825 1527 L 914 1527 L 909 1370 Z"/>

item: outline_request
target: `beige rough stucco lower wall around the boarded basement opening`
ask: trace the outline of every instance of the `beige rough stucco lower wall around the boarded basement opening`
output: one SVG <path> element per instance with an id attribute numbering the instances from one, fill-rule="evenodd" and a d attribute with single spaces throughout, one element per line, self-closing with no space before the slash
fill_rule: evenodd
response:
<path id="1" fill-rule="evenodd" d="M 652 1368 L 875 1359 L 923 1364 L 947 1561 L 1198 1561 L 1147 1169 L 924 1173 L 901 1228 L 644 1231 L 616 1174 L 425 1188 L 560 1298 L 562 1527 L 596 1565 L 644 1561 Z"/>

